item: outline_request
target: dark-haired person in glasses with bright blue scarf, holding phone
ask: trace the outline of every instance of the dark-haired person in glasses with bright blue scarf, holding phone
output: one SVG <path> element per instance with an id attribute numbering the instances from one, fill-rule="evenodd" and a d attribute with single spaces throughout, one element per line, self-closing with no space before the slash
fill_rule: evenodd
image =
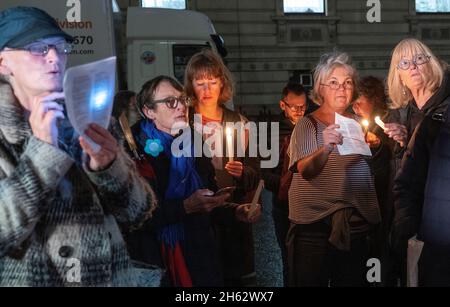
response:
<path id="1" fill-rule="evenodd" d="M 156 77 L 138 94 L 144 119 L 132 127 L 142 161 L 140 173 L 158 196 L 158 207 L 144 227 L 128 235 L 132 258 L 163 266 L 172 286 L 221 286 L 223 278 L 217 244 L 211 227 L 214 219 L 235 217 L 252 221 L 244 206 L 225 205 L 230 193 L 217 190 L 209 158 L 179 156 L 173 142 L 190 131 L 188 99 L 174 79 Z M 220 208 L 218 208 L 220 207 Z"/>

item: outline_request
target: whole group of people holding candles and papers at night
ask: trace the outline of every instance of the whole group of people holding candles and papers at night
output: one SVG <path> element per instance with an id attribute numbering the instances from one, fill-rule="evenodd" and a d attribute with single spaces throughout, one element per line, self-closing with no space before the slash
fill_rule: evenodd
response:
<path id="1" fill-rule="evenodd" d="M 78 135 L 60 103 L 72 41 L 42 10 L 0 12 L 0 286 L 257 285 L 261 179 L 285 286 L 370 286 L 371 258 L 376 285 L 404 286 L 414 236 L 418 284 L 450 286 L 450 84 L 421 41 L 395 46 L 386 82 L 339 51 L 320 57 L 309 93 L 288 82 L 270 169 L 225 106 L 232 74 L 210 49 L 183 85 L 119 92 L 109 129 Z M 371 155 L 340 154 L 337 116 L 368 121 Z"/>

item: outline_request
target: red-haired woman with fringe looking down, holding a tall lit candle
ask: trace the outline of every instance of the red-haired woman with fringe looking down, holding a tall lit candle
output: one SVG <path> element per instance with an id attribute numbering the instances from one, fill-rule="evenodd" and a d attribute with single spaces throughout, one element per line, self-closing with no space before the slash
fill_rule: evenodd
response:
<path id="1" fill-rule="evenodd" d="M 259 165 L 256 158 L 248 156 L 248 131 L 245 131 L 243 143 L 238 142 L 242 139 L 237 138 L 239 131 L 233 130 L 228 137 L 225 133 L 227 124 L 239 122 L 245 124 L 247 122 L 242 115 L 224 106 L 224 103 L 233 96 L 233 80 L 230 71 L 217 54 L 205 49 L 195 54 L 186 67 L 185 91 L 193 101 L 193 107 L 189 114 L 191 125 L 203 134 L 204 140 L 219 133 L 219 143 L 213 143 L 212 149 L 219 146 L 226 153 L 225 149 L 230 147 L 227 144 L 232 141 L 232 145 L 234 145 L 233 153 L 212 158 L 219 186 L 235 186 L 236 190 L 233 193 L 232 201 L 241 204 L 249 203 L 252 199 L 252 192 L 259 182 Z M 201 123 L 194 122 L 194 114 L 201 115 Z M 238 146 L 245 149 L 243 150 L 245 157 L 239 157 L 236 154 L 239 153 Z M 241 222 L 233 225 L 217 225 L 217 232 L 222 237 L 221 247 L 226 285 L 254 285 L 251 225 Z"/>

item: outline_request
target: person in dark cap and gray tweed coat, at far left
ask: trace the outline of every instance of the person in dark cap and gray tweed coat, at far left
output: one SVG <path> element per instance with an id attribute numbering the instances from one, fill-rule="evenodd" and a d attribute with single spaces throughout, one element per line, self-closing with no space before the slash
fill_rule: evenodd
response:
<path id="1" fill-rule="evenodd" d="M 0 12 L 0 286 L 150 277 L 131 266 L 118 224 L 150 216 L 151 188 L 108 130 L 85 131 L 94 151 L 57 103 L 72 41 L 42 10 Z"/>

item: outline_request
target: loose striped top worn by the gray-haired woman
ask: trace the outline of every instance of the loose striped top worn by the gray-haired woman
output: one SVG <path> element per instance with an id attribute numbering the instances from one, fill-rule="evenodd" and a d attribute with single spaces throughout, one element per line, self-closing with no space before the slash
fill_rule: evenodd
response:
<path id="1" fill-rule="evenodd" d="M 317 128 L 317 131 L 316 131 Z M 306 116 L 294 128 L 289 146 L 289 168 L 323 146 L 322 132 Z M 369 224 L 380 222 L 375 186 L 370 167 L 361 155 L 341 156 L 335 148 L 322 171 L 306 180 L 294 173 L 289 189 L 289 219 L 295 224 L 311 224 L 343 208 L 354 208 Z"/>

